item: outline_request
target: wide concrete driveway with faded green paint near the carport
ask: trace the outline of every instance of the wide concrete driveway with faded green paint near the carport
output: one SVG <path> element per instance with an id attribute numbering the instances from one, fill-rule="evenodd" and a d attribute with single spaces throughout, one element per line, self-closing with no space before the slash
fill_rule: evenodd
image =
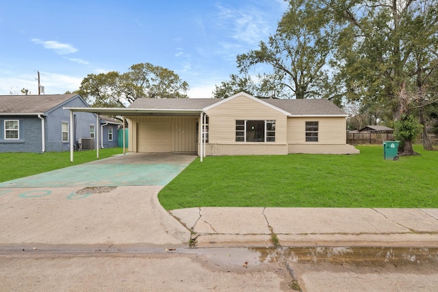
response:
<path id="1" fill-rule="evenodd" d="M 0 244 L 187 245 L 157 194 L 196 157 L 116 155 L 0 184 Z"/>

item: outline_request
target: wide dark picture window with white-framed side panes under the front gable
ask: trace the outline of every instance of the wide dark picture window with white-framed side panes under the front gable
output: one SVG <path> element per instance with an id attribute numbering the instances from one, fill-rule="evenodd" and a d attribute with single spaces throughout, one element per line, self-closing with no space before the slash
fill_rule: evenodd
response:
<path id="1" fill-rule="evenodd" d="M 235 142 L 275 142 L 275 120 L 236 120 Z"/>

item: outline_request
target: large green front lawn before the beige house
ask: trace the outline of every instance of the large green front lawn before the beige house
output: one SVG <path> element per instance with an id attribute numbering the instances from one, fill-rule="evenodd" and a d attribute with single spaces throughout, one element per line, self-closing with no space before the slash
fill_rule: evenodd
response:
<path id="1" fill-rule="evenodd" d="M 438 152 L 199 158 L 159 192 L 165 209 L 189 207 L 437 208 Z"/>

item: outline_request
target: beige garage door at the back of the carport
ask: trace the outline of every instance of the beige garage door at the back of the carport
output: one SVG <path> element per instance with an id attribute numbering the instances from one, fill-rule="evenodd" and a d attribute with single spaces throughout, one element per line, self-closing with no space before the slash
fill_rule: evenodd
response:
<path id="1" fill-rule="evenodd" d="M 170 152 L 171 142 L 170 122 L 139 122 L 137 124 L 138 152 Z"/>

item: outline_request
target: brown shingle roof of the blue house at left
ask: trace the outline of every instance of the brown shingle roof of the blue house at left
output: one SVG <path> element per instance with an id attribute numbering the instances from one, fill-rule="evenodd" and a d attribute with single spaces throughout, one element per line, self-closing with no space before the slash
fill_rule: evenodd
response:
<path id="1" fill-rule="evenodd" d="M 44 114 L 75 96 L 79 94 L 0 95 L 0 114 Z"/>

